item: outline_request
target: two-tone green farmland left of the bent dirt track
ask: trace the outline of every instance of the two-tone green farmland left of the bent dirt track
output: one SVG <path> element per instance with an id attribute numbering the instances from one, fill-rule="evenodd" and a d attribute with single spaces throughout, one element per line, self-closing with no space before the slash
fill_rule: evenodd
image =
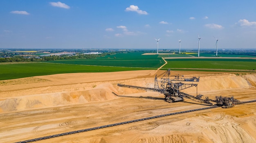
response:
<path id="1" fill-rule="evenodd" d="M 120 53 L 94 59 L 47 61 L 47 63 L 0 64 L 0 80 L 79 72 L 118 72 L 156 69 L 164 64 L 157 55 Z"/>

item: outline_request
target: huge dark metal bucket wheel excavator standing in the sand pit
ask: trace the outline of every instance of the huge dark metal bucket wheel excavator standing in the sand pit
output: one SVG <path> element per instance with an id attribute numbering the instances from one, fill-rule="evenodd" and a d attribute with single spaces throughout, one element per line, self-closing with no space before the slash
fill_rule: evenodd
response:
<path id="1" fill-rule="evenodd" d="M 158 84 L 157 78 L 162 76 L 160 80 L 160 87 Z M 170 77 L 173 77 L 172 79 Z M 171 76 L 171 70 L 168 69 L 166 72 L 163 72 L 159 76 L 155 75 L 155 85 L 154 88 L 149 87 L 138 87 L 138 86 L 132 86 L 132 85 L 123 85 L 123 84 L 117 84 L 119 87 L 127 87 L 132 89 L 140 89 L 140 90 L 146 90 L 146 91 L 155 91 L 159 93 L 163 93 L 165 96 L 166 102 L 180 102 L 184 101 L 184 98 L 213 105 L 211 102 L 216 102 L 216 105 L 222 106 L 223 108 L 230 108 L 233 107 L 236 102 L 239 102 L 239 100 L 234 99 L 234 97 L 227 98 L 227 97 L 218 97 L 216 96 L 216 99 L 211 100 L 208 97 L 205 99 L 202 99 L 201 94 L 196 96 L 189 95 L 187 93 L 181 92 L 183 89 L 187 89 L 190 87 L 197 87 L 198 84 L 196 82 L 199 82 L 200 77 L 192 77 L 192 78 L 184 78 L 184 76 L 181 76 L 179 74 Z M 197 90 L 196 90 L 197 91 Z"/>

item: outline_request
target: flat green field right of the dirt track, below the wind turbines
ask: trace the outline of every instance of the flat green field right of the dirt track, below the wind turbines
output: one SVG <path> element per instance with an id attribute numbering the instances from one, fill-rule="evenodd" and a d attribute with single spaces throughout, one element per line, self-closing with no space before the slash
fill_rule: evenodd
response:
<path id="1" fill-rule="evenodd" d="M 186 58 L 186 59 L 166 59 L 165 69 L 256 69 L 256 60 L 241 58 Z"/>

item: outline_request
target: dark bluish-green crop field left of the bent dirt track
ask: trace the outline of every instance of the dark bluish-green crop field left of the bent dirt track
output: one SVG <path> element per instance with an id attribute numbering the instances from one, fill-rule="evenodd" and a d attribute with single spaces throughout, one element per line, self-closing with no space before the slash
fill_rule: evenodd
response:
<path id="1" fill-rule="evenodd" d="M 47 63 L 63 63 L 76 65 L 99 65 L 114 67 L 148 67 L 158 68 L 164 64 L 164 60 L 158 55 L 141 55 L 143 53 L 118 53 L 94 59 L 70 59 L 47 61 Z"/>

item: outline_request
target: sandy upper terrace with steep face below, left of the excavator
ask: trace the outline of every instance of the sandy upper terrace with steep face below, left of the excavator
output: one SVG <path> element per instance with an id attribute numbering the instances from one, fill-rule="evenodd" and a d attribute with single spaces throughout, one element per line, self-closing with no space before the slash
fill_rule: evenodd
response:
<path id="1" fill-rule="evenodd" d="M 0 81 L 0 112 L 22 111 L 117 98 L 113 80 L 145 76 L 148 71 L 58 74 Z"/>

